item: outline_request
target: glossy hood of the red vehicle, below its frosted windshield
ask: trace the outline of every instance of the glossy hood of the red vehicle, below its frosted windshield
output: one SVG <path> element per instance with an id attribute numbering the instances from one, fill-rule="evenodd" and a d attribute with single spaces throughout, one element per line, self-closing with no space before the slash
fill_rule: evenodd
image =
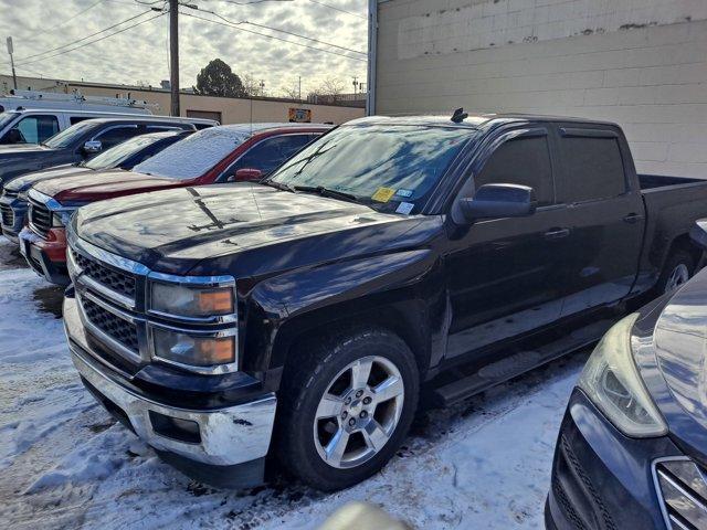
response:
<path id="1" fill-rule="evenodd" d="M 178 186 L 187 186 L 187 182 L 124 169 L 109 169 L 46 180 L 38 183 L 34 189 L 59 202 L 84 203 Z"/>

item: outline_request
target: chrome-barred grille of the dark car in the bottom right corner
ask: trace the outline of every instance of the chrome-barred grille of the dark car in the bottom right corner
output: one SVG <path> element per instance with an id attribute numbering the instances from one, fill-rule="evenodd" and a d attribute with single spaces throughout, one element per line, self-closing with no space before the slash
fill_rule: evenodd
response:
<path id="1" fill-rule="evenodd" d="M 655 479 L 669 529 L 707 529 L 707 475 L 701 467 L 687 458 L 658 462 Z"/>

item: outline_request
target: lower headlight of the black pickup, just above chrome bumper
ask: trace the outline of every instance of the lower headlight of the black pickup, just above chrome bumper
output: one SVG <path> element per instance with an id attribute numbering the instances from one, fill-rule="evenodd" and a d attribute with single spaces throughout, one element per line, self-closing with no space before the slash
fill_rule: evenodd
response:
<path id="1" fill-rule="evenodd" d="M 212 367 L 235 362 L 234 337 L 192 337 L 186 333 L 155 328 L 155 354 L 160 359 L 189 364 Z"/>

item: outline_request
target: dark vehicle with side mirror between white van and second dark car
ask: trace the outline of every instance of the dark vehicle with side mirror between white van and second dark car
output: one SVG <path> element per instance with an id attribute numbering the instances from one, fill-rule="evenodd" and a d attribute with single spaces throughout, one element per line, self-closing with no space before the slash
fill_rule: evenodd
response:
<path id="1" fill-rule="evenodd" d="M 0 184 L 23 173 L 75 163 L 146 132 L 196 130 L 188 118 L 125 116 L 86 119 L 52 136 L 40 145 L 0 146 Z"/>

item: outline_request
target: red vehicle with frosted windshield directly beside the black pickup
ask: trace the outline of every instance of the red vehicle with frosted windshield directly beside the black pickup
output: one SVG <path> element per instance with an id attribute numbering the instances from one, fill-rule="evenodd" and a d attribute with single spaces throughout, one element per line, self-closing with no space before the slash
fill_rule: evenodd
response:
<path id="1" fill-rule="evenodd" d="M 228 125 L 200 130 L 139 163 L 38 182 L 29 191 L 29 223 L 20 250 L 48 280 L 64 285 L 64 226 L 78 206 L 115 197 L 235 180 L 260 180 L 331 127 L 303 124 Z M 162 213 L 165 213 L 162 211 Z"/>

